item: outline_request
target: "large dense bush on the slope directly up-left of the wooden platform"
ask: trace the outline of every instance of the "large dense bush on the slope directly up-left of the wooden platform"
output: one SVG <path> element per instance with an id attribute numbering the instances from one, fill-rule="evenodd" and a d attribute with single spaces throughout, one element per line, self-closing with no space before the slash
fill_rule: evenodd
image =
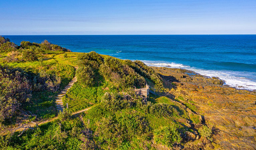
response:
<path id="1" fill-rule="evenodd" d="M 118 87 L 144 87 L 146 83 L 145 79 L 134 69 L 113 57 L 104 59 L 104 64 L 100 65 L 99 72 L 105 79 L 110 80 Z"/>

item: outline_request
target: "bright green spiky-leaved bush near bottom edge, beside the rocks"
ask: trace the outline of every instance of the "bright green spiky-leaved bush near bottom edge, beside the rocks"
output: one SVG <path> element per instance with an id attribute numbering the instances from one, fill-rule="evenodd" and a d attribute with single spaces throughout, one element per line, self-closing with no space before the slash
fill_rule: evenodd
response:
<path id="1" fill-rule="evenodd" d="M 182 138 L 175 126 L 167 126 L 154 130 L 154 141 L 168 147 L 173 147 L 173 144 L 180 144 Z"/>

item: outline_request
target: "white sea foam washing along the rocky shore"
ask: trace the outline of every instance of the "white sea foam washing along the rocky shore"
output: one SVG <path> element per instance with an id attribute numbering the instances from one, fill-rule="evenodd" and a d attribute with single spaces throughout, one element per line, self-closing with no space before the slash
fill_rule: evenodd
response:
<path id="1" fill-rule="evenodd" d="M 256 73 L 243 71 L 227 71 L 227 70 L 204 70 L 190 67 L 183 64 L 148 61 L 142 60 L 148 66 L 182 68 L 200 73 L 209 77 L 219 77 L 225 81 L 225 84 L 236 87 L 237 89 L 255 90 L 256 89 Z"/>

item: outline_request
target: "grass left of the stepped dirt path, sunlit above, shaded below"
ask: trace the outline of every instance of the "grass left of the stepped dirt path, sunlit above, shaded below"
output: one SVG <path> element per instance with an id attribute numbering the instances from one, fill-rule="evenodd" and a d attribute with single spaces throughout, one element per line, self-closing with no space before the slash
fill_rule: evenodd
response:
<path id="1" fill-rule="evenodd" d="M 25 71 L 37 74 L 40 70 L 46 71 L 48 74 L 54 74 L 61 77 L 60 90 L 63 89 L 75 75 L 73 64 L 69 61 L 75 60 L 78 53 L 68 53 L 67 58 L 61 58 L 64 52 L 61 51 L 47 51 L 43 54 L 38 54 L 38 57 L 43 57 L 42 63 L 40 61 L 33 62 L 11 62 L 8 63 L 12 67 L 20 67 Z M 2 53 L 1 59 L 8 55 Z M 56 60 L 55 60 L 56 59 Z M 58 92 L 32 92 L 30 102 L 23 104 L 25 110 L 35 114 L 37 118 L 52 118 L 56 116 L 55 97 Z"/>

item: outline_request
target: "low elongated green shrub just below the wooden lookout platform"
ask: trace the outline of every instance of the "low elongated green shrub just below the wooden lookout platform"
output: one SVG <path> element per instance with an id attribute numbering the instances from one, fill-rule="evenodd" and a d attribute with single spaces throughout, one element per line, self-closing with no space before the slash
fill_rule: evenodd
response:
<path id="1" fill-rule="evenodd" d="M 166 104 L 166 103 L 152 104 L 151 102 L 147 102 L 146 105 L 142 105 L 142 109 L 144 110 L 145 113 L 150 113 L 158 117 L 169 117 L 169 116 L 180 115 L 177 109 L 172 107 L 170 104 Z"/>

